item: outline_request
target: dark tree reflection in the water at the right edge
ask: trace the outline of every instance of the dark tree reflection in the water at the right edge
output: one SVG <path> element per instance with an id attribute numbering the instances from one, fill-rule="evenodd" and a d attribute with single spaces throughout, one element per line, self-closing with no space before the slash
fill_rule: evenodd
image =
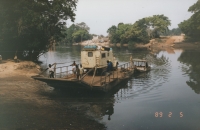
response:
<path id="1" fill-rule="evenodd" d="M 187 85 L 200 94 L 200 51 L 184 51 L 178 58 L 186 66 L 182 66 L 182 71 L 190 76 L 190 80 L 186 81 Z"/>

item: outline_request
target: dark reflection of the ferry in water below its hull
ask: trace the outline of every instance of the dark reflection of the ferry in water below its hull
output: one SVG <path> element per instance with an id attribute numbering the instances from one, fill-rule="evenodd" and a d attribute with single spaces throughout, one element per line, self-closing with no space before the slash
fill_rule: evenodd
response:
<path id="1" fill-rule="evenodd" d="M 56 100 L 57 103 L 62 104 L 63 108 L 69 110 L 82 110 L 86 115 L 101 120 L 104 116 L 108 120 L 112 119 L 114 114 L 115 99 L 113 92 L 100 93 L 89 90 L 77 89 L 54 89 L 53 93 L 41 93 L 49 96 L 51 100 Z M 64 100 L 63 100 L 64 99 Z"/>

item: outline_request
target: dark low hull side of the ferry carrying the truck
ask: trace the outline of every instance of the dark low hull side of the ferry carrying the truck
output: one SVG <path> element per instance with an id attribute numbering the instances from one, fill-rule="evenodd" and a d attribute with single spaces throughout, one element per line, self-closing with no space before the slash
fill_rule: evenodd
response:
<path id="1" fill-rule="evenodd" d="M 133 75 L 133 70 L 124 73 L 123 77 L 112 79 L 112 81 L 104 82 L 101 85 L 93 84 L 90 85 L 89 82 L 77 80 L 77 79 L 62 79 L 62 78 L 46 78 L 42 76 L 32 76 L 35 80 L 40 80 L 46 82 L 49 86 L 55 88 L 68 88 L 68 89 L 87 89 L 93 91 L 108 92 L 114 89 L 117 85 L 125 83 Z"/>

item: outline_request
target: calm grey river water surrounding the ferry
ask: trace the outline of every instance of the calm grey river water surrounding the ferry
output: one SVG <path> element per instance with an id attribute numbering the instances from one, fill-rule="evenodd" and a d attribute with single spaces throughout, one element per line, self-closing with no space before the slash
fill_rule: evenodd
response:
<path id="1" fill-rule="evenodd" d="M 56 51 L 40 57 L 41 66 L 78 62 L 80 51 L 80 46 L 56 48 Z M 133 75 L 126 84 L 120 85 L 120 89 L 109 94 L 75 94 L 68 90 L 49 89 L 48 96 L 52 100 L 70 102 L 77 108 L 87 106 L 85 114 L 108 130 L 200 129 L 199 50 L 150 53 L 113 48 L 113 52 L 120 64 L 132 55 L 133 58 L 147 58 L 152 69 Z"/>

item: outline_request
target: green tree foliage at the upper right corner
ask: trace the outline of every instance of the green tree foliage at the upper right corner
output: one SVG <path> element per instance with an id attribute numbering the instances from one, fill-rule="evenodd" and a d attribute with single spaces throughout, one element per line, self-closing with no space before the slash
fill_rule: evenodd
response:
<path id="1" fill-rule="evenodd" d="M 188 11 L 194 14 L 188 20 L 181 22 L 179 28 L 189 39 L 198 41 L 200 40 L 200 0 L 190 6 Z"/>

